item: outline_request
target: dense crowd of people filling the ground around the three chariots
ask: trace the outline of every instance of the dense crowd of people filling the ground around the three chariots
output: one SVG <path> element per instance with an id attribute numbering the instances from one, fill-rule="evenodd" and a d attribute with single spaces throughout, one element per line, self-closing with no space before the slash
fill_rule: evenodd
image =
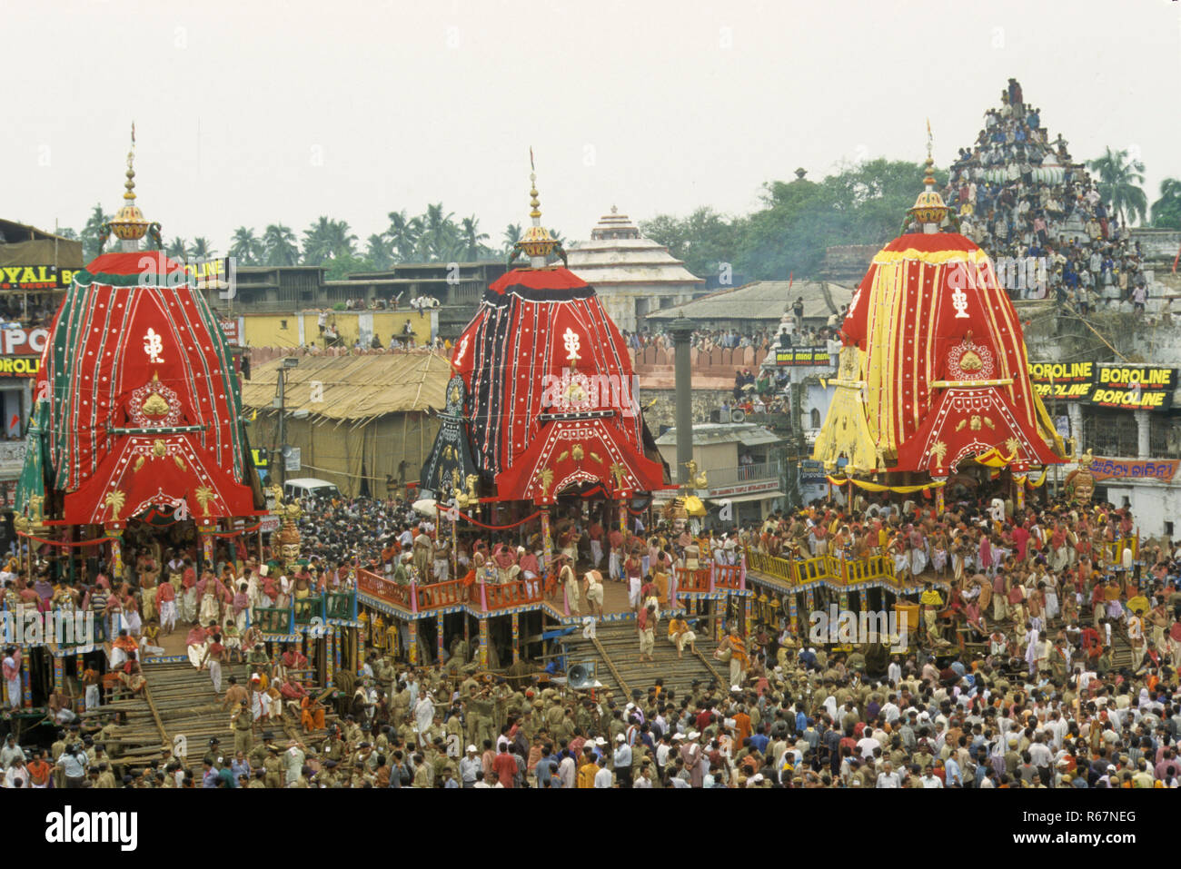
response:
<path id="1" fill-rule="evenodd" d="M 64 731 L 48 754 L 12 745 L 0 750 L 2 784 L 1177 786 L 1181 547 L 1138 541 L 1127 509 L 1064 502 L 1019 509 L 1003 496 L 981 499 L 963 489 L 950 494 L 941 514 L 924 499 L 869 503 L 855 496 L 852 505 L 817 502 L 745 527 L 694 532 L 670 518 L 650 521 L 644 529 L 633 518 L 625 530 L 603 516 L 570 510 L 555 520 L 550 564 L 541 563 L 540 529 L 531 525 L 482 541 L 465 536 L 456 554 L 459 575 L 535 582 L 556 607 L 588 620 L 592 633 L 603 615 L 603 584 L 620 582 L 637 616 L 641 660 L 652 660 L 657 642 L 678 654 L 696 652 L 698 614 L 671 606 L 680 577 L 711 561 L 737 564 L 744 551 L 844 561 L 888 556 L 902 583 L 899 602 L 914 599 L 921 619 L 905 652 L 892 653 L 885 642 L 833 646 L 809 634 L 807 612 L 792 629 L 782 592 L 766 587 L 771 594 L 759 597 L 753 632 L 743 635 L 742 619 L 727 613 L 723 640 L 710 653 L 729 664 L 725 681 L 678 691 L 655 679 L 631 697 L 570 691 L 536 667 L 501 675 L 479 671 L 463 640 L 444 661 L 423 667 L 407 665 L 398 643 L 374 642 L 358 672 L 338 674 L 341 717 L 315 741 L 293 736 L 288 726 L 275 736 L 283 723 L 275 703 L 291 707 L 288 725 L 300 721 L 306 731 L 324 725 L 322 712 L 317 720 L 317 711 L 307 708 L 311 692 L 292 678 L 306 658 L 288 647 L 286 658 L 262 660 L 248 635 L 236 654 L 222 655 L 224 640 L 207 634 L 197 640 L 205 643 L 203 662 L 216 643 L 220 661 L 240 662 L 249 685 L 231 679 L 227 700 L 278 692 L 269 719 L 263 703 L 259 710 L 248 705 L 244 718 L 235 716 L 243 737 L 235 737 L 233 753 L 213 745 L 201 769 L 168 757 L 136 764 L 118 757 L 117 746 L 112 751 L 112 732 L 79 728 L 63 701 L 57 721 Z M 224 563 L 203 575 L 183 553 L 164 553 L 159 563 L 141 553 L 131 594 L 126 583 L 100 577 L 84 589 L 86 596 L 76 597 L 77 606 L 100 601 L 104 612 L 113 606 L 125 614 L 138 608 L 149 621 L 178 606 L 181 620 L 194 625 L 190 632 L 211 625 L 224 635 L 240 627 L 235 616 L 256 595 L 281 602 L 283 594 L 298 599 L 307 589 L 345 587 L 355 566 L 399 582 L 437 581 L 455 569 L 450 553 L 436 557 L 448 535 L 404 501 L 320 504 L 305 532 L 313 557 L 286 587 L 268 577 L 269 564 L 230 543 Z M 1130 541 L 1135 555 L 1124 555 Z M 242 567 L 234 556 L 244 556 Z M 168 606 L 158 590 L 148 594 L 171 586 L 154 574 L 176 571 L 180 603 Z M 15 562 L 5 582 L 6 593 L 15 595 L 9 603 L 78 592 L 65 583 L 46 587 L 44 577 L 30 588 Z M 823 588 L 816 595 L 817 609 L 828 596 L 835 600 Z M 128 629 L 123 619 L 116 626 Z M 120 666 L 138 651 L 125 647 Z M 6 675 L 8 669 L 6 659 Z M 269 686 L 260 686 L 259 677 Z M 305 711 L 312 720 L 302 720 Z"/>

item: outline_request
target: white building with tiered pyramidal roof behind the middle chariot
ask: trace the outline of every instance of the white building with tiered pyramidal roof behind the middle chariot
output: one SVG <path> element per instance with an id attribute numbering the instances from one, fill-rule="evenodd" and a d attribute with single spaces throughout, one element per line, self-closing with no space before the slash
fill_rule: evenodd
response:
<path id="1" fill-rule="evenodd" d="M 608 316 L 627 332 L 638 332 L 651 311 L 690 301 L 705 285 L 614 205 L 590 241 L 574 242 L 568 256 L 570 272 L 598 290 Z"/>

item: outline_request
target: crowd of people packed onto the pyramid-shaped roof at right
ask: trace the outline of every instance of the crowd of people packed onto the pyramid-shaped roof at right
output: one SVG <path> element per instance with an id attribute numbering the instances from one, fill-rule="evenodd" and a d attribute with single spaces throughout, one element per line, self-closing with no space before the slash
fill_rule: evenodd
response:
<path id="1" fill-rule="evenodd" d="M 974 146 L 960 149 L 945 192 L 960 230 L 988 251 L 1001 286 L 1024 299 L 1055 298 L 1081 313 L 1101 301 L 1143 312 L 1141 250 L 1042 110 L 1009 79 L 984 116 Z"/>

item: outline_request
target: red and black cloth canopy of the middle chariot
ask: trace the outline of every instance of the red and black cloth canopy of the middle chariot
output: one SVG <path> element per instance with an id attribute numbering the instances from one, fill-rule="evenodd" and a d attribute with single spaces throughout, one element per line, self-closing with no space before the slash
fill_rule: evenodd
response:
<path id="1" fill-rule="evenodd" d="M 515 269 L 492 283 L 451 364 L 474 462 L 497 499 L 550 503 L 583 484 L 621 498 L 664 485 L 659 453 L 645 451 L 624 337 L 568 269 Z"/>

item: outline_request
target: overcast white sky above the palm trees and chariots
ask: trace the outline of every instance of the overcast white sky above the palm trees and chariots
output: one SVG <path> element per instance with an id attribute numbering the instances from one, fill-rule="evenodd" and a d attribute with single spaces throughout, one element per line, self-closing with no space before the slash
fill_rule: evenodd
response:
<path id="1" fill-rule="evenodd" d="M 745 213 L 796 166 L 946 166 L 1010 76 L 1076 157 L 1134 146 L 1181 177 L 1181 4 L 74 0 L 0 5 L 2 216 L 80 229 L 137 192 L 165 237 L 318 215 L 363 240 L 443 201 L 498 244 L 528 213 L 587 237 Z"/>

